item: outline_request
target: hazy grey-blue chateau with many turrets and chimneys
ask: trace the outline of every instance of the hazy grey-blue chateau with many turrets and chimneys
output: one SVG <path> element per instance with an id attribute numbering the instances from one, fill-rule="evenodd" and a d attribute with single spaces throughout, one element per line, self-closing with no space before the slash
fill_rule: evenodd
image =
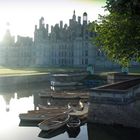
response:
<path id="1" fill-rule="evenodd" d="M 60 21 L 51 26 L 44 24 L 44 18 L 35 25 L 34 39 L 14 37 L 7 30 L 0 45 L 0 65 L 16 67 L 113 67 L 115 64 L 107 60 L 105 55 L 90 42 L 96 32 L 89 31 L 88 15 L 76 17 L 75 11 L 69 25 Z"/>

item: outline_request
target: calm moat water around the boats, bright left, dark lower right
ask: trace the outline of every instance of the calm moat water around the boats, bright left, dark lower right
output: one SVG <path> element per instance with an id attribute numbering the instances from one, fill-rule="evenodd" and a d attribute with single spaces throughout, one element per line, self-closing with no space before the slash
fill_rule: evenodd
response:
<path id="1" fill-rule="evenodd" d="M 62 128 L 48 136 L 37 126 L 20 125 L 19 113 L 36 108 L 38 94 L 47 88 L 46 83 L 0 87 L 0 140 L 140 140 L 140 129 L 121 126 L 86 123 L 75 132 Z"/>

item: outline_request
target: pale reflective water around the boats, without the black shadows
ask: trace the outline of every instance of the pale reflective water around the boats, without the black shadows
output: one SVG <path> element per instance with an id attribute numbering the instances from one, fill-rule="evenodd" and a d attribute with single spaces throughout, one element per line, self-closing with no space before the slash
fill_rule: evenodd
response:
<path id="1" fill-rule="evenodd" d="M 40 129 L 37 124 L 20 124 L 19 113 L 27 112 L 28 110 L 37 109 L 38 104 L 51 103 L 52 105 L 59 104 L 52 102 L 51 100 L 42 100 L 39 98 L 40 92 L 49 91 L 46 83 L 35 84 L 35 85 L 23 85 L 13 86 L 9 88 L 0 88 L 0 139 L 2 140 L 40 140 L 39 137 Z M 62 101 L 63 102 L 63 101 Z M 45 104 L 44 104 L 45 105 Z M 59 104 L 63 105 L 62 103 Z M 8 122 L 8 123 L 7 123 Z M 24 126 L 24 127 L 23 127 Z M 28 127 L 30 126 L 30 127 Z M 64 131 L 64 130 L 63 130 Z M 86 132 L 86 126 L 83 131 Z M 8 135 L 7 135 L 8 132 Z M 57 132 L 58 134 L 58 132 Z M 78 135 L 81 140 L 87 139 L 87 132 L 84 138 L 82 133 Z M 50 137 L 50 136 L 49 136 Z M 69 139 L 68 134 L 65 130 L 64 133 L 56 135 L 51 139 L 66 140 Z"/>

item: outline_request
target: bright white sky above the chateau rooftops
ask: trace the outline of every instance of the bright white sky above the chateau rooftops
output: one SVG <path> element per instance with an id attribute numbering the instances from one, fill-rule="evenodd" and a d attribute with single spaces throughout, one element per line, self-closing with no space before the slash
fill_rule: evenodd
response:
<path id="1" fill-rule="evenodd" d="M 105 14 L 104 5 L 105 0 L 0 0 L 0 41 L 7 28 L 12 36 L 33 37 L 41 17 L 49 26 L 60 20 L 68 24 L 75 10 L 77 17 L 87 12 L 88 20 L 96 20 Z"/>

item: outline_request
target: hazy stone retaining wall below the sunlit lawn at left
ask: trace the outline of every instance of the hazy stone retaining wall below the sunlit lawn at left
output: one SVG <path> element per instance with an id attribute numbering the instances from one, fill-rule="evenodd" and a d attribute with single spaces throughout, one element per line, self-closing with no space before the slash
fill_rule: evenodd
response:
<path id="1" fill-rule="evenodd" d="M 34 82 L 50 82 L 50 74 L 0 76 L 0 86 L 28 84 Z"/>

